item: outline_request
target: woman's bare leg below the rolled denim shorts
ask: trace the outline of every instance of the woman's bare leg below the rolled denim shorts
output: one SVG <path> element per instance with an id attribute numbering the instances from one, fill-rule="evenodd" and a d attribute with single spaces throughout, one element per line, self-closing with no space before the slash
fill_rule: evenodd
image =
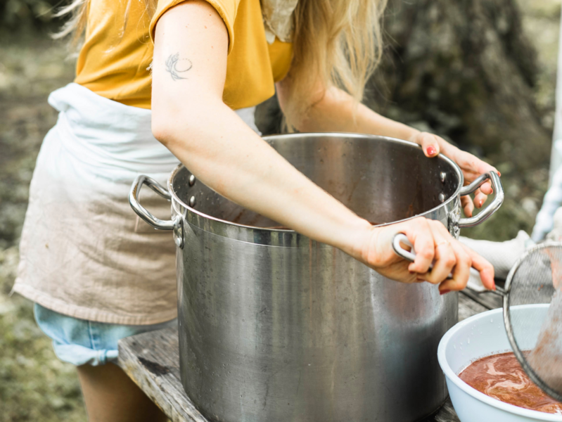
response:
<path id="1" fill-rule="evenodd" d="M 114 364 L 77 367 L 89 422 L 164 422 L 165 414 Z"/>

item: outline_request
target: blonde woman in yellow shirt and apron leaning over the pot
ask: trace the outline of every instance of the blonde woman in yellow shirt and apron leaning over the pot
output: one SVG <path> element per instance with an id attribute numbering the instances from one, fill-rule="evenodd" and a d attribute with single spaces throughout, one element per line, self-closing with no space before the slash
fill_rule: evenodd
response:
<path id="1" fill-rule="evenodd" d="M 63 34 L 84 30 L 84 44 L 75 83 L 49 97 L 60 115 L 37 160 L 14 289 L 36 303 L 58 357 L 77 365 L 90 421 L 165 419 L 117 366 L 105 365 L 115 362 L 119 338 L 174 324 L 176 315 L 170 234 L 136 219 L 127 203 L 140 172 L 163 182 L 179 160 L 227 198 L 390 279 L 439 284 L 443 294 L 464 288 L 473 265 L 494 287 L 490 264 L 439 222 L 373 227 L 256 133 L 252 107 L 276 87 L 288 127 L 409 139 L 428 157 L 447 154 L 467 181 L 494 170 L 358 103 L 380 56 L 383 6 L 77 0 L 65 9 L 76 13 Z M 475 205 L 491 192 L 485 184 Z M 169 215 L 162 201 L 143 203 Z M 463 203 L 471 215 L 471 200 Z M 414 244 L 415 262 L 392 251 L 399 231 Z"/>

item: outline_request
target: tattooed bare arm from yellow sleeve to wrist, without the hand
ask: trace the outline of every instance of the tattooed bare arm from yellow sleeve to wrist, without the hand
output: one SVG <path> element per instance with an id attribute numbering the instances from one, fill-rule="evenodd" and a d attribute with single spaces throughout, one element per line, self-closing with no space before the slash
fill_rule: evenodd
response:
<path id="1" fill-rule="evenodd" d="M 153 133 L 226 198 L 351 252 L 350 233 L 369 223 L 298 172 L 223 103 L 228 41 L 205 1 L 162 16 L 153 59 Z M 170 63 L 176 64 L 170 69 Z"/>

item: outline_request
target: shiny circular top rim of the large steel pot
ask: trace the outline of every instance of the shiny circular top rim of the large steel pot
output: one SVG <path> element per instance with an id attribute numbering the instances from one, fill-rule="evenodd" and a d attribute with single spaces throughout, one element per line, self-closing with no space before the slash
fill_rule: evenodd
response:
<path id="1" fill-rule="evenodd" d="M 298 134 L 277 134 L 277 135 L 262 136 L 262 139 L 264 141 L 269 141 L 269 139 L 276 139 L 276 138 L 279 138 L 280 136 L 283 136 L 283 138 L 288 138 L 288 139 L 290 139 L 290 138 L 302 139 L 303 137 L 304 138 L 315 138 L 317 136 L 324 136 L 324 137 L 332 136 L 332 137 L 338 137 L 338 138 L 341 138 L 342 136 L 346 136 L 347 138 L 359 138 L 359 139 L 365 139 L 365 138 L 369 139 L 369 138 L 371 138 L 371 139 L 390 141 L 392 143 L 402 143 L 403 145 L 411 146 L 413 148 L 421 148 L 421 145 L 419 145 L 418 143 L 411 142 L 411 141 L 404 141 L 403 139 L 391 138 L 390 136 L 357 134 L 357 133 L 352 133 L 352 132 L 307 132 L 307 133 L 298 133 Z M 456 172 L 456 177 L 458 177 L 458 179 L 459 179 L 459 186 L 456 186 L 456 190 L 454 191 L 454 193 L 451 196 L 449 196 L 449 198 L 447 198 L 447 200 L 443 201 L 443 203 L 441 203 L 440 205 L 438 205 L 436 207 L 433 207 L 430 210 L 427 210 L 427 211 L 425 211 L 421 214 L 417 214 L 417 215 L 413 215 L 411 217 L 396 220 L 394 222 L 376 224 L 376 227 L 383 227 L 383 226 L 388 226 L 390 224 L 397 224 L 397 223 L 400 223 L 400 222 L 406 222 L 409 219 L 414 219 L 416 217 L 424 217 L 425 215 L 428 215 L 431 212 L 433 212 L 435 210 L 438 210 L 440 207 L 443 207 L 443 206 L 447 205 L 448 203 L 452 202 L 453 200 L 455 200 L 459 196 L 461 188 L 464 186 L 464 175 L 461 172 L 461 168 L 456 164 L 456 162 L 454 162 L 453 160 L 448 158 L 446 155 L 443 155 L 442 153 L 440 153 L 437 157 L 434 157 L 434 158 L 437 158 L 438 160 L 443 160 L 443 161 L 447 162 L 447 164 L 449 164 L 452 167 L 454 172 Z M 428 158 L 428 160 L 431 160 L 431 159 L 433 159 L 433 158 Z M 177 210 L 177 208 L 175 207 L 175 205 L 176 205 L 175 203 L 178 203 L 179 205 L 181 205 L 181 207 L 186 208 L 186 210 L 189 210 L 189 212 L 193 212 L 193 214 L 196 214 L 199 217 L 203 217 L 204 219 L 207 219 L 207 220 L 212 220 L 212 222 L 226 224 L 227 226 L 237 227 L 238 229 L 251 229 L 253 231 L 264 231 L 264 232 L 269 232 L 269 233 L 272 233 L 272 232 L 273 233 L 275 233 L 275 232 L 297 233 L 296 231 L 294 231 L 292 229 L 273 229 L 273 228 L 268 228 L 268 227 L 248 226 L 248 225 L 245 225 L 245 224 L 233 223 L 233 222 L 226 221 L 224 219 L 212 217 L 210 215 L 205 214 L 204 212 L 200 212 L 200 211 L 196 210 L 195 208 L 190 207 L 189 205 L 184 203 L 183 200 L 179 199 L 179 197 L 175 193 L 174 189 L 172 188 L 172 184 L 173 184 L 173 181 L 174 181 L 174 178 L 175 178 L 176 174 L 183 167 L 186 167 L 186 166 L 184 166 L 181 163 L 179 165 L 177 165 L 177 167 L 175 167 L 174 170 L 172 170 L 172 172 L 170 173 L 170 177 L 168 177 L 168 180 L 167 180 L 167 188 L 168 188 L 168 191 L 170 192 L 170 195 L 172 196 L 172 199 L 173 199 L 172 207 L 174 207 L 174 210 L 176 212 L 178 212 L 179 215 L 181 215 L 181 212 L 179 210 Z"/>

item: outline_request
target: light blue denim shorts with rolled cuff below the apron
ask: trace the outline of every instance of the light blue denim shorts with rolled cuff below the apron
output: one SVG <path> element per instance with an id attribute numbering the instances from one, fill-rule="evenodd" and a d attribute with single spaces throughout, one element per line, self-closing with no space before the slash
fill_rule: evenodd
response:
<path id="1" fill-rule="evenodd" d="M 63 362 L 79 366 L 117 362 L 117 340 L 129 335 L 177 326 L 177 319 L 153 325 L 119 325 L 77 319 L 34 305 L 35 321 L 53 340 L 55 354 Z"/>

